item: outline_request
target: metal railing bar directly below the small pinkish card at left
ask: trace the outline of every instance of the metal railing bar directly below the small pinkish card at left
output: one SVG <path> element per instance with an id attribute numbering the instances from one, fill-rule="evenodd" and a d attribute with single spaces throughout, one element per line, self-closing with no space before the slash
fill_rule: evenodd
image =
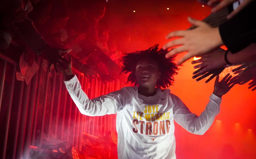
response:
<path id="1" fill-rule="evenodd" d="M 17 118 L 15 120 L 15 130 L 14 130 L 14 141 L 13 141 L 13 154 L 12 159 L 15 158 L 16 155 L 16 148 L 17 148 L 17 140 L 18 140 L 18 132 L 19 132 L 19 120 L 21 117 L 21 104 L 22 104 L 22 97 L 23 97 L 23 88 L 24 88 L 24 82 L 25 81 L 17 81 L 20 83 L 19 88 L 19 99 L 18 99 L 18 106 L 17 106 Z"/>

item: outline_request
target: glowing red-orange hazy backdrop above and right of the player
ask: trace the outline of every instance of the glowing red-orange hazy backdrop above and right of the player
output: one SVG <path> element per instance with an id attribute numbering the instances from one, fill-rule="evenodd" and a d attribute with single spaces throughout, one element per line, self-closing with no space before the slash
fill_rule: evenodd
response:
<path id="1" fill-rule="evenodd" d="M 122 52 L 144 50 L 156 43 L 161 47 L 167 42 L 167 33 L 191 26 L 187 17 L 202 20 L 211 10 L 197 1 L 188 0 L 115 1 L 110 8 L 107 12 L 112 22 L 111 37 L 119 39 Z M 176 59 L 182 55 L 179 54 Z M 191 61 L 180 67 L 170 90 L 182 99 L 192 113 L 200 115 L 213 92 L 214 79 L 207 84 L 206 79 L 198 82 L 192 79 L 195 69 Z M 231 70 L 232 67 L 226 68 L 220 77 L 227 73 L 233 75 Z M 220 114 L 203 136 L 190 134 L 175 123 L 177 158 L 255 158 L 256 94 L 247 88 L 248 83 L 235 85 L 223 96 Z"/>

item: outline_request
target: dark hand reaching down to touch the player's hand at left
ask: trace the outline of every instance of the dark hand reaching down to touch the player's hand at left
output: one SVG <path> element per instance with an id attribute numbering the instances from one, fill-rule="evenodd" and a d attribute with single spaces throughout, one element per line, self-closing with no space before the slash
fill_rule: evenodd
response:
<path id="1" fill-rule="evenodd" d="M 39 56 L 49 61 L 49 72 L 51 72 L 51 66 L 54 65 L 56 73 L 59 74 L 57 63 L 63 68 L 65 68 L 65 65 L 63 65 L 61 61 L 67 64 L 69 63 L 65 58 L 63 58 L 63 56 L 67 55 L 71 49 L 53 48 L 46 44 L 40 49 L 40 51 L 42 51 L 42 53 Z"/>

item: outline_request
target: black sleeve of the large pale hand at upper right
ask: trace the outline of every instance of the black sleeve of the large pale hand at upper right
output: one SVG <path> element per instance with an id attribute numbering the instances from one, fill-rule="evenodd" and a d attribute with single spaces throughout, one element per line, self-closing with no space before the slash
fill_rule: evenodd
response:
<path id="1" fill-rule="evenodd" d="M 251 2 L 229 21 L 219 26 L 224 45 L 236 53 L 256 42 L 256 1 Z"/>

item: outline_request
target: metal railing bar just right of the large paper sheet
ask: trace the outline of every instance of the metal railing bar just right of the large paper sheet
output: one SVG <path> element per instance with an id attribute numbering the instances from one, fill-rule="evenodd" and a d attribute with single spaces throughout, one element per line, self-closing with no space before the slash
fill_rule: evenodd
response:
<path id="1" fill-rule="evenodd" d="M 37 96 L 35 98 L 35 108 L 34 108 L 34 119 L 33 119 L 33 126 L 32 126 L 32 139 L 31 143 L 35 144 L 35 132 L 37 128 L 37 115 L 38 115 L 38 105 L 39 105 L 39 98 L 40 98 L 40 91 L 41 91 L 41 82 L 42 82 L 42 72 L 43 72 L 43 58 L 40 60 L 40 67 L 38 73 L 38 81 L 37 81 Z"/>

